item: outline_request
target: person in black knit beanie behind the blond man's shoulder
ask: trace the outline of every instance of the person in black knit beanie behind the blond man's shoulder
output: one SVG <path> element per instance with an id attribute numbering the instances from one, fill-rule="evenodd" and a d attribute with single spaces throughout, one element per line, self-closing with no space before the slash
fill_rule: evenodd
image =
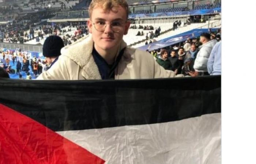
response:
<path id="1" fill-rule="evenodd" d="M 48 66 L 52 67 L 52 65 L 59 59 L 61 55 L 60 50 L 64 47 L 64 42 L 57 35 L 51 35 L 45 39 L 43 45 L 43 55 L 45 56 Z"/>

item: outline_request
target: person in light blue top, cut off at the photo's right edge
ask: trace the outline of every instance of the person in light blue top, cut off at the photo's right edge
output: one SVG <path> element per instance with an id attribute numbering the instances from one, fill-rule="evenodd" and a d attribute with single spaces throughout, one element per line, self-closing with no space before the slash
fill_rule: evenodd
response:
<path id="1" fill-rule="evenodd" d="M 221 41 L 212 48 L 207 69 L 210 75 L 221 75 Z"/>

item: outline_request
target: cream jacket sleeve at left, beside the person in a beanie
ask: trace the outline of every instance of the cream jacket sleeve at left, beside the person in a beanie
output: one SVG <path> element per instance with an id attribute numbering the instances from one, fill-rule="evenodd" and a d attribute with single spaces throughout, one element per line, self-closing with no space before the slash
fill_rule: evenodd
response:
<path id="1" fill-rule="evenodd" d="M 61 55 L 49 70 L 37 77 L 37 80 L 70 80 L 69 69 L 71 69 L 71 67 L 68 66 L 68 60 L 70 59 Z"/>

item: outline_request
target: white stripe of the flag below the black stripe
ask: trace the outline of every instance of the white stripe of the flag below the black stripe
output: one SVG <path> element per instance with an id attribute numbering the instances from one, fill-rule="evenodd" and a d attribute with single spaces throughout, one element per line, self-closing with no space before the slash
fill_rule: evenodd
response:
<path id="1" fill-rule="evenodd" d="M 57 133 L 109 164 L 221 163 L 221 113 L 161 124 Z"/>

